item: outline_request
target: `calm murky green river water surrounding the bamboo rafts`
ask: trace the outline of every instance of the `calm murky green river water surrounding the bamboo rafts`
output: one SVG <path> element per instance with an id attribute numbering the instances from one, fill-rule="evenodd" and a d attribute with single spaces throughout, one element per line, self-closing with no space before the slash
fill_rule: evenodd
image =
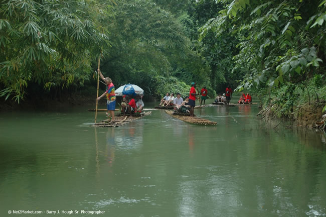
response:
<path id="1" fill-rule="evenodd" d="M 155 110 L 101 129 L 87 107 L 0 113 L 0 216 L 326 216 L 325 135 L 258 111 L 206 107 L 218 124 L 205 127 Z"/>

